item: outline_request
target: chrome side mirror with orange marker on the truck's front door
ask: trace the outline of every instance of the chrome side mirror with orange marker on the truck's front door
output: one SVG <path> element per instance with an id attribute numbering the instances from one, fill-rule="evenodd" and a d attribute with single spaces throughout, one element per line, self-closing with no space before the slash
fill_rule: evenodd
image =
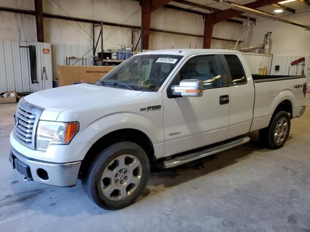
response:
<path id="1" fill-rule="evenodd" d="M 171 86 L 173 96 L 201 97 L 203 82 L 201 80 L 183 80 L 180 85 Z"/>

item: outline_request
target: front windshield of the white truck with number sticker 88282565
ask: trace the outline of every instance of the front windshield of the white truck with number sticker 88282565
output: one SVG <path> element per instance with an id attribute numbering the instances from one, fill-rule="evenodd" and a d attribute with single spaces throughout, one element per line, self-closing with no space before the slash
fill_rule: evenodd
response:
<path id="1" fill-rule="evenodd" d="M 156 92 L 182 56 L 137 55 L 117 66 L 96 84 L 106 87 Z"/>

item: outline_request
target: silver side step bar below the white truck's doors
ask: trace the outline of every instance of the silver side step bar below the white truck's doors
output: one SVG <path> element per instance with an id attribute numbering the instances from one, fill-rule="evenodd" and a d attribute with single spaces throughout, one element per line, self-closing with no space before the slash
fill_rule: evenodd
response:
<path id="1" fill-rule="evenodd" d="M 172 167 L 184 164 L 184 163 L 188 163 L 188 162 L 193 161 L 193 160 L 198 160 L 200 158 L 213 155 L 213 154 L 221 152 L 221 151 L 225 151 L 225 150 L 233 148 L 235 146 L 246 144 L 249 141 L 250 141 L 249 137 L 240 138 L 240 139 L 228 142 L 226 144 L 218 145 L 215 147 L 211 147 L 211 148 L 204 149 L 204 150 L 197 151 L 197 152 L 193 152 L 193 153 L 188 153 L 188 154 L 183 155 L 183 156 L 175 157 L 171 160 L 165 160 L 163 162 L 163 165 L 164 165 L 164 168 L 172 168 Z"/>

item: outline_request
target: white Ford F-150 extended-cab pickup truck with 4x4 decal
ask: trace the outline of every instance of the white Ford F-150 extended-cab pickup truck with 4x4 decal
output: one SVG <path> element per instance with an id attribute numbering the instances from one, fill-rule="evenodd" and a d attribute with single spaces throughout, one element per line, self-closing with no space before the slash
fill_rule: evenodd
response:
<path id="1" fill-rule="evenodd" d="M 175 167 L 256 130 L 266 147 L 281 147 L 305 94 L 305 76 L 252 76 L 236 51 L 144 52 L 95 84 L 21 99 L 10 162 L 26 180 L 66 187 L 80 178 L 94 203 L 119 209 L 139 197 L 155 160 Z"/>

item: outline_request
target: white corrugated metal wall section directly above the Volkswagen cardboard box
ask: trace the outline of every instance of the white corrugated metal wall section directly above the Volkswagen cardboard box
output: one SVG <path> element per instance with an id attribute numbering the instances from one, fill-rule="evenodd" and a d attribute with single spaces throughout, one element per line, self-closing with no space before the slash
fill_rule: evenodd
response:
<path id="1" fill-rule="evenodd" d="M 54 79 L 57 77 L 57 65 L 66 65 L 66 57 L 86 58 L 86 64 L 93 65 L 93 47 L 68 44 L 53 44 Z M 71 60 L 70 65 L 82 65 L 82 60 Z"/>

